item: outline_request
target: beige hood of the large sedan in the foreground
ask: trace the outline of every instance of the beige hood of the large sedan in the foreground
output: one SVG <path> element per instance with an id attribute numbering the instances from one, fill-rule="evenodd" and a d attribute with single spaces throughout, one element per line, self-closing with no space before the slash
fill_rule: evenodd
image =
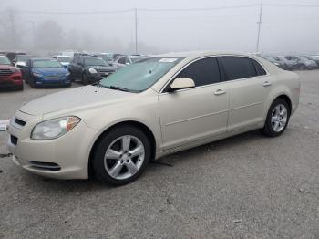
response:
<path id="1" fill-rule="evenodd" d="M 23 105 L 20 111 L 34 116 L 60 110 L 67 110 L 72 113 L 78 110 L 120 103 L 135 95 L 135 93 L 96 86 L 79 87 L 32 100 Z"/>

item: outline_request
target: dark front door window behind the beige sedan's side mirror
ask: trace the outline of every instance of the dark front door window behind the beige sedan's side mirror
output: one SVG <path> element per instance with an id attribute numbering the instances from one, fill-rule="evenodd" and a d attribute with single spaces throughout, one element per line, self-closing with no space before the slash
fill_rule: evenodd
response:
<path id="1" fill-rule="evenodd" d="M 191 78 L 195 86 L 205 86 L 212 83 L 220 82 L 220 69 L 217 58 L 204 58 L 191 63 L 184 68 L 176 78 Z"/>

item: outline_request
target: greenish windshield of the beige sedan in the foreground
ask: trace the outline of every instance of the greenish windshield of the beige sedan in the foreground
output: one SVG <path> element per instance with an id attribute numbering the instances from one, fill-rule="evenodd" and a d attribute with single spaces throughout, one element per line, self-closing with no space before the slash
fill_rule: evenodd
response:
<path id="1" fill-rule="evenodd" d="M 108 78 L 100 81 L 100 86 L 127 88 L 131 92 L 141 92 L 164 76 L 182 58 L 152 57 L 119 69 Z"/>

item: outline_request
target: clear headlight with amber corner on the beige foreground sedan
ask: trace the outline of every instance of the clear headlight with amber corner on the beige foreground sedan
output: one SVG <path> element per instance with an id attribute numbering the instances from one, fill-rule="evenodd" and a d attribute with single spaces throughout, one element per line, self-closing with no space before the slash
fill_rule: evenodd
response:
<path id="1" fill-rule="evenodd" d="M 46 120 L 38 123 L 32 130 L 31 139 L 33 140 L 52 140 L 61 137 L 69 130 L 72 130 L 80 121 L 75 116 Z"/>

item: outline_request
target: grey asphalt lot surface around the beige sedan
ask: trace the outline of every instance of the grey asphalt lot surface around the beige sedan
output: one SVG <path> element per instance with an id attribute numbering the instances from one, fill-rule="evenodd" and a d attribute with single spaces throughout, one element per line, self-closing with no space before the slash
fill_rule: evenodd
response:
<path id="1" fill-rule="evenodd" d="M 298 74 L 301 103 L 281 137 L 182 151 L 123 187 L 48 181 L 0 159 L 0 238 L 319 238 L 319 70 Z M 0 119 L 57 90 L 0 93 Z"/>

